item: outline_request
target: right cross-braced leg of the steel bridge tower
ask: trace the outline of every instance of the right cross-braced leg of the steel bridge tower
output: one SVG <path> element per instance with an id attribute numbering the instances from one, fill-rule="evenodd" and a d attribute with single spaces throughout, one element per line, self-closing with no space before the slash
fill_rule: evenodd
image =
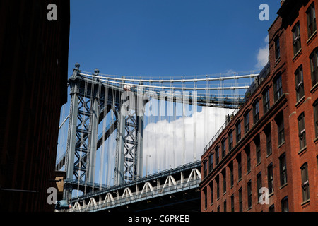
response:
<path id="1" fill-rule="evenodd" d="M 117 160 L 114 184 L 138 179 L 143 173 L 143 88 L 137 95 L 122 93 L 117 129 Z"/>

